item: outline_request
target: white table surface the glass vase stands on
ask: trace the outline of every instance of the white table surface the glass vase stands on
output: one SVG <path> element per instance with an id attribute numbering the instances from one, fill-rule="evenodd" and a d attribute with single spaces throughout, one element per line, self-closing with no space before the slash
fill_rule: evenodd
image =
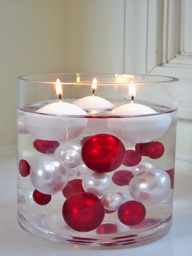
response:
<path id="1" fill-rule="evenodd" d="M 192 256 L 192 168 L 177 160 L 173 224 L 163 238 L 147 245 L 105 250 L 67 249 L 47 245 L 27 236 L 16 221 L 16 156 L 0 159 L 0 255 L 70 256 L 134 255 Z"/>

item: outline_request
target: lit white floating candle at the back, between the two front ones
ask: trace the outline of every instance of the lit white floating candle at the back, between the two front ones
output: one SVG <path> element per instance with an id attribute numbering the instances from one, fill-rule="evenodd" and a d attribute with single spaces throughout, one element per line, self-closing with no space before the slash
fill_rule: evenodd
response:
<path id="1" fill-rule="evenodd" d="M 81 99 L 75 100 L 73 104 L 79 106 L 80 108 L 88 111 L 100 111 L 104 109 L 112 109 L 114 105 L 108 100 L 94 95 L 94 91 L 97 89 L 97 80 L 93 79 L 92 84 L 92 96 L 86 96 Z"/>

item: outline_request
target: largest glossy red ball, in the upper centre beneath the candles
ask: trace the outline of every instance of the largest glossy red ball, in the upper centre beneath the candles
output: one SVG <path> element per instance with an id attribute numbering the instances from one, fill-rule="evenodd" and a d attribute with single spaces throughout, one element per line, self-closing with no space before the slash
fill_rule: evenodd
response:
<path id="1" fill-rule="evenodd" d="M 83 163 L 93 171 L 111 172 L 123 163 L 125 147 L 114 135 L 96 134 L 84 142 L 81 158 Z"/>

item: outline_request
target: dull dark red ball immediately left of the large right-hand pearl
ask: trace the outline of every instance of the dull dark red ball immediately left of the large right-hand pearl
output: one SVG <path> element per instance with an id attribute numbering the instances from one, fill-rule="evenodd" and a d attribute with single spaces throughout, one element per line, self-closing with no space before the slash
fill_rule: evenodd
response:
<path id="1" fill-rule="evenodd" d="M 115 171 L 112 176 L 112 181 L 117 186 L 126 186 L 129 185 L 129 181 L 133 178 L 133 174 L 128 170 L 118 170 Z"/>

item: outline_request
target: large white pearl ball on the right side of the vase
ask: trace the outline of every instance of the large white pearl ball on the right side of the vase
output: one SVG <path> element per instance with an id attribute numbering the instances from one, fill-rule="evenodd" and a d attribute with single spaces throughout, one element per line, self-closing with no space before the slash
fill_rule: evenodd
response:
<path id="1" fill-rule="evenodd" d="M 151 169 L 139 172 L 129 182 L 129 193 L 134 200 L 144 205 L 161 203 L 171 187 L 169 174 L 163 170 Z"/>

